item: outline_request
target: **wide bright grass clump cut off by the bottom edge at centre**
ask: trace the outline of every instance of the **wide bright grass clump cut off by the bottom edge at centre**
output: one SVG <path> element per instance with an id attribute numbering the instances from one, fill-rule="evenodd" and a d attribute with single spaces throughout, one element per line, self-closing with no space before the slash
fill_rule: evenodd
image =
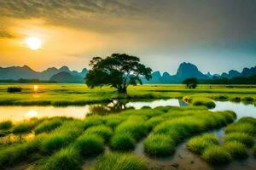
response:
<path id="1" fill-rule="evenodd" d="M 110 153 L 96 162 L 95 170 L 147 170 L 144 161 L 131 154 Z"/>

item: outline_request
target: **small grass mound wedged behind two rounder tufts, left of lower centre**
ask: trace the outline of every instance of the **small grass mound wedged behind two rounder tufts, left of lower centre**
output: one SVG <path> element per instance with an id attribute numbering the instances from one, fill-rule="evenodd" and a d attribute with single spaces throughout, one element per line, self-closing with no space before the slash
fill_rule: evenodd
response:
<path id="1" fill-rule="evenodd" d="M 101 136 L 105 141 L 108 141 L 111 138 L 113 131 L 110 127 L 99 125 L 87 128 L 84 133 L 97 134 Z"/>

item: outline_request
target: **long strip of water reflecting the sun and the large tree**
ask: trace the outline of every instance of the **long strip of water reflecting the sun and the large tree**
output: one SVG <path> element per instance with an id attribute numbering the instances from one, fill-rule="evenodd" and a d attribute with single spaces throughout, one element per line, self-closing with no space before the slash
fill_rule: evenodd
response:
<path id="1" fill-rule="evenodd" d="M 183 101 L 178 99 L 158 99 L 154 101 L 130 101 L 130 102 L 117 102 L 113 101 L 109 104 L 102 105 L 84 105 L 84 106 L 67 106 L 67 107 L 54 107 L 54 106 L 0 106 L 0 122 L 11 120 L 19 122 L 32 117 L 52 117 L 52 116 L 67 116 L 78 119 L 84 119 L 86 114 L 92 111 L 121 111 L 128 107 L 141 109 L 143 106 L 155 108 L 161 105 L 184 105 Z"/>

